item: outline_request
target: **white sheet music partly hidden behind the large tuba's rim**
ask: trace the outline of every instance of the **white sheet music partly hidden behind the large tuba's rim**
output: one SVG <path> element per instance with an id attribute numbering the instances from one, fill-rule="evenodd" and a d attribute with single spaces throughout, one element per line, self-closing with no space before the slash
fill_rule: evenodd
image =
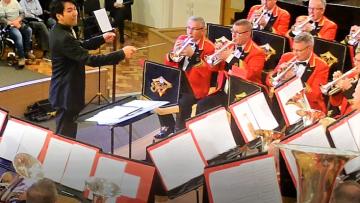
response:
<path id="1" fill-rule="evenodd" d="M 300 132 L 300 133 L 302 134 L 300 137 L 297 137 L 296 139 L 288 142 L 288 144 L 330 148 L 330 144 L 326 137 L 326 131 L 321 125 L 318 125 L 305 133 L 304 132 Z M 298 171 L 296 168 L 295 158 L 290 151 L 284 150 L 284 152 L 286 159 L 290 165 L 291 172 L 294 175 L 296 183 L 298 183 Z"/>

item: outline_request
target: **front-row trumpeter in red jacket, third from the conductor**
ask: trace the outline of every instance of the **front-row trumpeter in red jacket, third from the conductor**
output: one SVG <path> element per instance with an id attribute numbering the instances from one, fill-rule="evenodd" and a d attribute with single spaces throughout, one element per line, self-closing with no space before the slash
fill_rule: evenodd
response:
<path id="1" fill-rule="evenodd" d="M 329 66 L 314 52 L 314 38 L 307 32 L 302 32 L 294 38 L 293 51 L 281 56 L 274 71 L 269 73 L 266 83 L 270 87 L 279 86 L 290 78 L 297 76 L 305 83 L 306 97 L 312 109 L 327 113 L 320 85 L 326 84 Z M 279 81 L 272 81 L 277 74 L 286 70 L 291 62 L 296 62 Z"/>

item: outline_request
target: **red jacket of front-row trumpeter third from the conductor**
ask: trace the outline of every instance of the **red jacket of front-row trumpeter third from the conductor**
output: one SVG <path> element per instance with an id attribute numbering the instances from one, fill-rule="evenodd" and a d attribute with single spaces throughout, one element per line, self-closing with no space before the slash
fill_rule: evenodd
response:
<path id="1" fill-rule="evenodd" d="M 293 57 L 294 54 L 292 52 L 288 52 L 282 55 L 278 65 L 274 69 L 274 72 L 277 72 L 280 69 L 280 64 L 290 61 Z M 311 75 L 307 78 L 306 81 L 303 82 L 305 82 L 306 97 L 310 103 L 310 106 L 312 109 L 327 113 L 327 108 L 320 90 L 320 85 L 324 85 L 328 81 L 329 66 L 325 61 L 313 53 L 311 54 L 308 67 L 306 68 L 304 74 L 306 74 L 307 71 L 311 71 Z M 270 72 L 266 79 L 266 84 L 268 86 L 272 86 L 270 83 L 270 76 L 272 75 L 273 72 Z"/>

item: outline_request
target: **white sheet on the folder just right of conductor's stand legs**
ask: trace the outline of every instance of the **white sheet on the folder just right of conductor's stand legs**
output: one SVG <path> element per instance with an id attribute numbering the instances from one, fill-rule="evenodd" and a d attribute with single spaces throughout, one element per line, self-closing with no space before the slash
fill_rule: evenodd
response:
<path id="1" fill-rule="evenodd" d="M 204 173 L 205 164 L 190 132 L 151 150 L 150 154 L 168 191 Z"/>

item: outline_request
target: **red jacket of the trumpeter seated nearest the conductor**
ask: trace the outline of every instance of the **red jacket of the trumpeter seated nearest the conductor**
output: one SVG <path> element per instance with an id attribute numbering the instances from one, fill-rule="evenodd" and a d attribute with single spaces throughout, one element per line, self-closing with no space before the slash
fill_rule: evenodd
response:
<path id="1" fill-rule="evenodd" d="M 181 35 L 177 38 L 177 40 L 184 40 L 186 37 L 186 35 Z M 188 67 L 186 69 L 185 75 L 189 81 L 189 85 L 191 86 L 195 98 L 201 99 L 207 96 L 211 79 L 211 71 L 209 65 L 205 62 L 204 57 L 213 54 L 215 47 L 209 39 L 204 37 L 197 43 L 197 51 L 199 51 L 200 54 L 199 59 L 196 59 L 196 64 L 193 64 L 192 67 Z M 198 56 L 196 56 L 196 53 L 194 53 L 193 57 Z M 169 55 L 167 55 L 165 64 L 176 68 L 182 68 L 184 60 L 185 57 L 182 59 L 182 61 L 176 63 L 171 60 Z"/>

